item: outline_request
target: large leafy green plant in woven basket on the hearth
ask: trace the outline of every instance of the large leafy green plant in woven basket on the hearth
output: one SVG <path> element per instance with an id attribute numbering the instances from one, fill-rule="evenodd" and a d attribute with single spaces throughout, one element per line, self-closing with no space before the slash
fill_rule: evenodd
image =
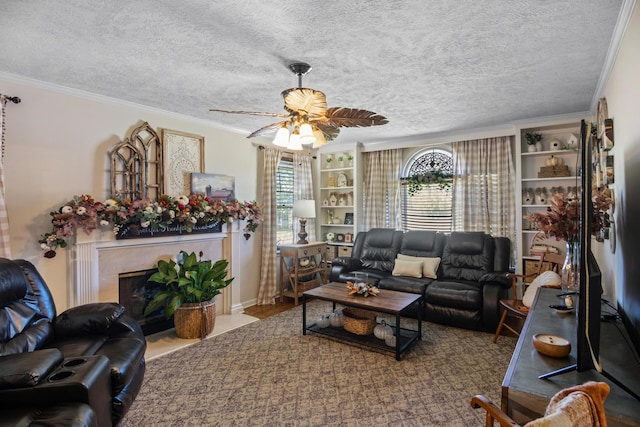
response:
<path id="1" fill-rule="evenodd" d="M 205 338 L 215 325 L 215 297 L 229 286 L 226 279 L 229 261 L 203 260 L 202 252 L 180 251 L 176 260 L 158 261 L 158 271 L 149 282 L 164 285 L 144 310 L 149 315 L 164 308 L 167 318 L 174 316 L 179 338 Z"/>

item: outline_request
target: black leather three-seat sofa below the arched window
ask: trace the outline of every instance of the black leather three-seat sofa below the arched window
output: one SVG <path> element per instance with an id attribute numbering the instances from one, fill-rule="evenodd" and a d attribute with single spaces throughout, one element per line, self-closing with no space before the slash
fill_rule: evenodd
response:
<path id="1" fill-rule="evenodd" d="M 435 277 L 394 275 L 398 254 L 440 258 Z M 380 289 L 423 294 L 425 320 L 492 332 L 500 319 L 499 300 L 511 287 L 510 255 L 508 238 L 482 232 L 374 228 L 357 234 L 351 257 L 332 261 L 330 280 L 355 281 L 356 273 L 366 273 Z"/>

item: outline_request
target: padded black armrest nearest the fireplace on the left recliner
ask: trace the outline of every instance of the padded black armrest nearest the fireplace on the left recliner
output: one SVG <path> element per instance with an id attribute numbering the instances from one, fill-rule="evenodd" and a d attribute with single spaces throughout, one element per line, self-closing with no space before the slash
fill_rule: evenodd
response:
<path id="1" fill-rule="evenodd" d="M 106 335 L 124 311 L 124 306 L 115 302 L 79 305 L 53 319 L 53 330 L 57 338 Z"/>

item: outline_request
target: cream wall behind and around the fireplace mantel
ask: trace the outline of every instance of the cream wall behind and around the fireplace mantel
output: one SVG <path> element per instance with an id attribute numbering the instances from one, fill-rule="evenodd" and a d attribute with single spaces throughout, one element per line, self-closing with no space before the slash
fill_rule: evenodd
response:
<path id="1" fill-rule="evenodd" d="M 67 308 L 68 251 L 58 250 L 45 259 L 38 240 L 51 230 L 49 212 L 74 195 L 91 194 L 104 200 L 108 194 L 109 149 L 146 121 L 160 128 L 205 137 L 206 173 L 235 176 L 239 200 L 260 200 L 257 148 L 246 135 L 214 129 L 204 121 L 178 116 L 117 100 L 92 96 L 0 74 L 0 93 L 18 96 L 6 116 L 4 177 L 13 258 L 33 262 L 50 286 L 58 311 Z M 238 259 L 232 260 L 241 277 L 243 305 L 255 303 L 258 294 L 260 242 L 258 233 L 239 239 Z M 235 292 L 234 292 L 235 293 Z"/>

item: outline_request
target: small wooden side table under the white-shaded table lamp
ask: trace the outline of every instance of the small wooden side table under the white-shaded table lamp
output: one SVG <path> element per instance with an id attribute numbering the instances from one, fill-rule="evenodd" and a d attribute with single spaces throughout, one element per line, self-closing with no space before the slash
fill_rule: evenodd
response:
<path id="1" fill-rule="evenodd" d="M 301 282 L 300 278 L 310 280 Z M 298 305 L 302 292 L 320 286 L 326 279 L 326 242 L 280 245 L 280 301 L 291 297 Z"/>

